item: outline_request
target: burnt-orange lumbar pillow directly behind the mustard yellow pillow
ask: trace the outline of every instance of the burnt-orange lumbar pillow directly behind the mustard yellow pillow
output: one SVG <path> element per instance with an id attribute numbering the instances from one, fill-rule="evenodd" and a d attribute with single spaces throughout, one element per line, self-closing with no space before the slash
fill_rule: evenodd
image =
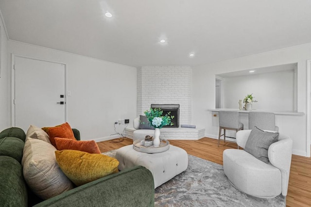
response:
<path id="1" fill-rule="evenodd" d="M 94 140 L 77 141 L 77 140 L 58 138 L 58 137 L 55 137 L 54 139 L 55 139 L 57 150 L 72 149 L 72 150 L 88 152 L 91 154 L 101 154 L 101 151 L 97 143 Z"/>

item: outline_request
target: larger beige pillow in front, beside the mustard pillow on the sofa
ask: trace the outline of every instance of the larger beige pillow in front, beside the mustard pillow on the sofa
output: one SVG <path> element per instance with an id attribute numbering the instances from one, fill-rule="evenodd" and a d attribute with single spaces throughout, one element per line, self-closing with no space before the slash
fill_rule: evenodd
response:
<path id="1" fill-rule="evenodd" d="M 52 144 L 32 138 L 28 138 L 24 146 L 22 165 L 25 181 L 42 199 L 73 189 L 73 183 L 56 162 L 55 151 Z"/>

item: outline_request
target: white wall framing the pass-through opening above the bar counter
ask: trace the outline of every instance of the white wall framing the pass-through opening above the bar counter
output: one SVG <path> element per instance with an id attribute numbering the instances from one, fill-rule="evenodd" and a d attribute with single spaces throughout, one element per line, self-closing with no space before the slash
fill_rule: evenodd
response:
<path id="1" fill-rule="evenodd" d="M 218 136 L 218 118 L 213 118 L 210 111 L 208 111 L 208 109 L 215 108 L 216 74 L 291 63 L 298 63 L 297 109 L 299 112 L 306 113 L 307 60 L 310 58 L 311 44 L 305 44 L 301 46 L 284 48 L 237 59 L 193 67 L 193 122 L 196 122 L 197 126 L 206 128 L 207 137 L 216 138 Z M 279 131 L 289 135 L 293 139 L 293 153 L 306 156 L 307 147 L 310 147 L 306 145 L 306 115 L 276 115 L 276 122 L 279 123 Z"/>

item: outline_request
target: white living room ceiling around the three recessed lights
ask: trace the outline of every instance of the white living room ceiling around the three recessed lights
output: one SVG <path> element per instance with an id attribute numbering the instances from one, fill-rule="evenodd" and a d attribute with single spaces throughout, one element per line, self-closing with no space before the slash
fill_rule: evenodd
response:
<path id="1" fill-rule="evenodd" d="M 195 66 L 311 42 L 311 0 L 0 0 L 0 10 L 10 40 L 131 66 Z"/>

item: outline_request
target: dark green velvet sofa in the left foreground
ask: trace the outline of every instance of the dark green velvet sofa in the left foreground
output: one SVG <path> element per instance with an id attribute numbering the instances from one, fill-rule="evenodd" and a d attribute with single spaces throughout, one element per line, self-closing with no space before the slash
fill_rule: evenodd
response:
<path id="1" fill-rule="evenodd" d="M 72 129 L 80 140 L 80 132 Z M 21 160 L 25 132 L 17 127 L 0 132 L 0 206 L 2 207 L 152 207 L 155 191 L 151 172 L 136 166 L 104 176 L 42 201 L 24 181 Z"/>

